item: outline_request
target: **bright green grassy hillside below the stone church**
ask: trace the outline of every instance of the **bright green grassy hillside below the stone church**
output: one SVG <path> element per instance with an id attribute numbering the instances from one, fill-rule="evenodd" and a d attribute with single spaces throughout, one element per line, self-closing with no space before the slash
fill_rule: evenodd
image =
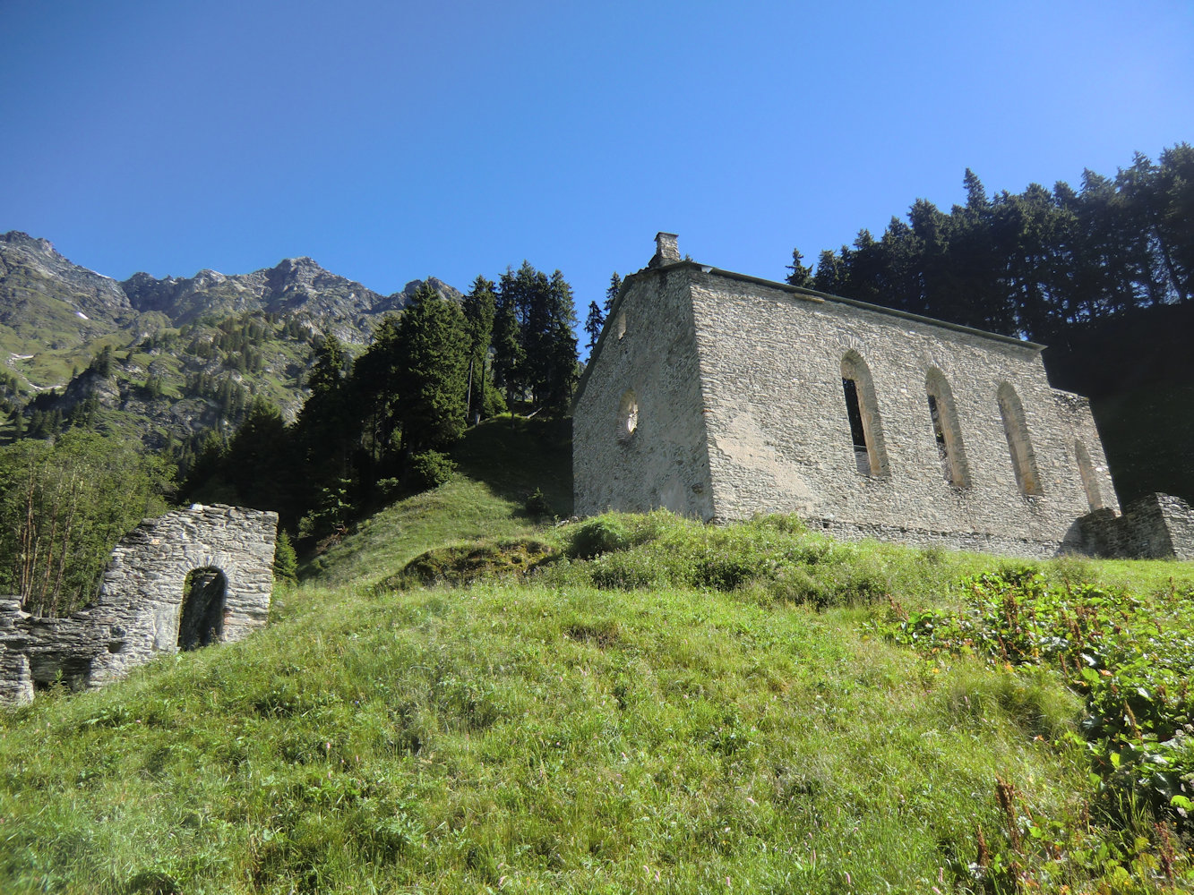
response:
<path id="1" fill-rule="evenodd" d="M 1001 591 L 990 622 L 984 591 L 955 586 L 1045 580 L 1024 563 L 843 545 L 784 518 L 536 526 L 535 487 L 567 512 L 561 436 L 480 427 L 456 481 L 325 554 L 248 641 L 0 717 L 0 890 L 1190 884 L 1180 819 L 1156 827 L 1131 780 L 1091 776 L 1083 693 L 1041 658 L 1044 600 L 1040 619 L 1013 617 Z M 516 550 L 478 533 L 534 539 L 543 558 L 498 574 Z M 443 549 L 457 542 L 469 550 Z M 429 550 L 424 566 L 480 580 L 396 590 Z M 1189 563 L 1036 568 L 1079 607 L 1085 581 L 1132 587 L 1138 606 L 1108 598 L 1120 632 L 1137 610 L 1156 642 L 1167 619 L 1188 624 Z M 1098 628 L 1081 617 L 1084 636 Z"/>

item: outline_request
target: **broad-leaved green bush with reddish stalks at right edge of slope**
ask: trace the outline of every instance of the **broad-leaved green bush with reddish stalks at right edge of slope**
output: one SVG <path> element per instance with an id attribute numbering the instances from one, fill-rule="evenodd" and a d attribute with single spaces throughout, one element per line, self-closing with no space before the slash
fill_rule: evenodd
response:
<path id="1" fill-rule="evenodd" d="M 966 579 L 962 592 L 959 612 L 893 607 L 890 635 L 928 655 L 1055 669 L 1085 697 L 1081 729 L 1104 809 L 1147 806 L 1194 832 L 1194 592 L 1144 599 L 1030 567 Z"/>

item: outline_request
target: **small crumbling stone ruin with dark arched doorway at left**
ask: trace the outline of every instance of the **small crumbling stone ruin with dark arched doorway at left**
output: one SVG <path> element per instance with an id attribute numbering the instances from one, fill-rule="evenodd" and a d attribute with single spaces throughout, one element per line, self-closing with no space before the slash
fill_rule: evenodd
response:
<path id="1" fill-rule="evenodd" d="M 196 504 L 129 532 L 79 612 L 39 618 L 0 597 L 0 703 L 56 683 L 99 687 L 159 655 L 241 640 L 269 615 L 277 532 L 277 513 Z"/>

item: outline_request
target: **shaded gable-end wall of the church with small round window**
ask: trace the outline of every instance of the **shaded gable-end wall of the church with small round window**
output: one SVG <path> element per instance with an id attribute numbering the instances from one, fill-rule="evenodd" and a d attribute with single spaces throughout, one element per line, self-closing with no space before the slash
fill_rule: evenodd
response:
<path id="1" fill-rule="evenodd" d="M 572 419 L 578 514 L 666 507 L 709 519 L 701 376 L 683 273 L 627 277 Z M 636 412 L 627 431 L 623 401 Z"/>

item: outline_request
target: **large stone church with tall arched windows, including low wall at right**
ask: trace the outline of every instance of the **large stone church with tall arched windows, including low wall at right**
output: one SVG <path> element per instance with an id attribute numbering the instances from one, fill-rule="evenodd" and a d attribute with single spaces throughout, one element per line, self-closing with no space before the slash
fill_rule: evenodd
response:
<path id="1" fill-rule="evenodd" d="M 795 513 L 1015 556 L 1194 558 L 1194 514 L 1120 513 L 1089 402 L 1041 345 L 682 260 L 626 278 L 573 415 L 578 514 Z"/>

